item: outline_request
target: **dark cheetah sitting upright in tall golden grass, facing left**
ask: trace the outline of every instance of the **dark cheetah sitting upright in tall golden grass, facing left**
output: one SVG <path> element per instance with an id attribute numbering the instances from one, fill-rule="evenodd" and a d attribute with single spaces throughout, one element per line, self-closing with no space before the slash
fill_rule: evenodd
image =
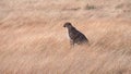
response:
<path id="1" fill-rule="evenodd" d="M 83 45 L 88 42 L 88 39 L 85 37 L 85 35 L 78 30 L 70 22 L 64 23 L 63 27 L 68 28 L 71 46 L 74 46 L 75 44 Z"/>

